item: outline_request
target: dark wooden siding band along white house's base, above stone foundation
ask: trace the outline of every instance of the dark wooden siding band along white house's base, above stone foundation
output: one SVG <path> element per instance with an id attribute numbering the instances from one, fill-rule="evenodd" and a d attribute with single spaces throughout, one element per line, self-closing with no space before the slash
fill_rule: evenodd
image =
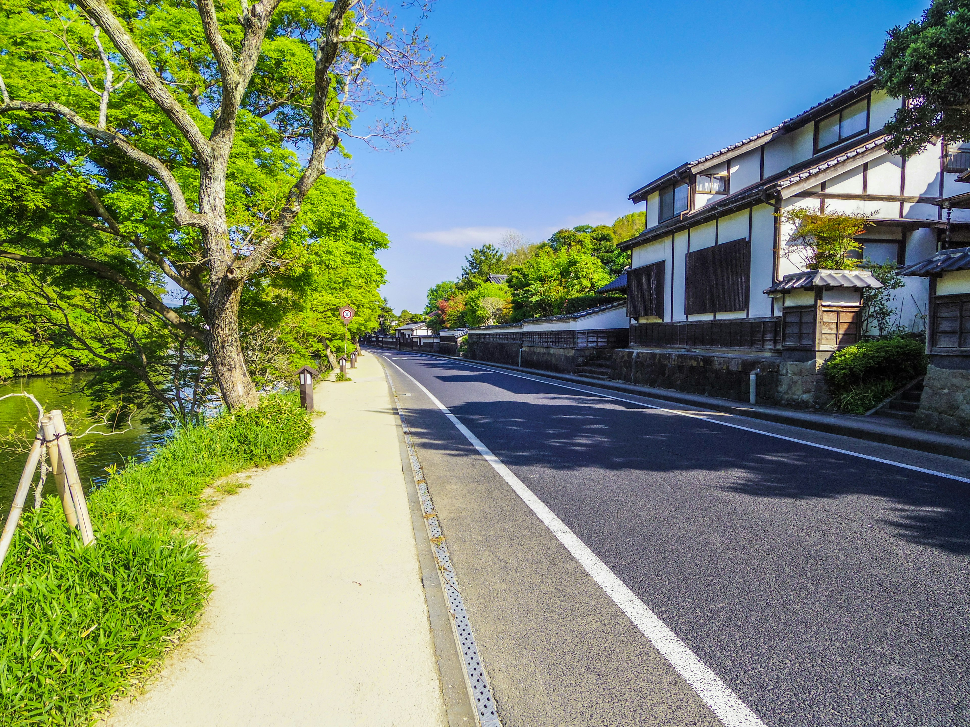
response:
<path id="1" fill-rule="evenodd" d="M 630 326 L 630 344 L 646 347 L 776 350 L 782 345 L 782 321 L 780 318 L 747 318 L 635 323 Z"/>

